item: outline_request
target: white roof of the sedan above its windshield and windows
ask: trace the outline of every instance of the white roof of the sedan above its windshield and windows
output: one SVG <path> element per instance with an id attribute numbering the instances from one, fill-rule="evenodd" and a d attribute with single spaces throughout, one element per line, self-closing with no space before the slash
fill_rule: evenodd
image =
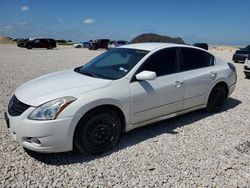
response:
<path id="1" fill-rule="evenodd" d="M 174 43 L 163 43 L 163 42 L 147 42 L 147 43 L 127 44 L 127 45 L 120 46 L 118 48 L 131 48 L 131 49 L 138 49 L 138 50 L 154 51 L 156 49 L 169 48 L 169 47 L 196 48 L 196 47 L 192 47 L 190 45 L 174 44 Z"/>

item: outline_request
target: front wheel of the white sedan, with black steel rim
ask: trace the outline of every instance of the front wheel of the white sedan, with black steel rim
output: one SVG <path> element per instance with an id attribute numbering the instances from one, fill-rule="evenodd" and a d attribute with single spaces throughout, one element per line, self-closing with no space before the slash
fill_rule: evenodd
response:
<path id="1" fill-rule="evenodd" d="M 108 108 L 99 108 L 83 117 L 75 130 L 76 148 L 89 155 L 102 154 L 117 145 L 121 133 L 119 116 Z"/>

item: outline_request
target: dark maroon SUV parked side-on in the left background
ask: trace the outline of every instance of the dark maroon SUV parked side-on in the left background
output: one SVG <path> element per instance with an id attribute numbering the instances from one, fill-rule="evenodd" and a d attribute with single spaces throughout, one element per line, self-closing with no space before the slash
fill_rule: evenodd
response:
<path id="1" fill-rule="evenodd" d="M 56 47 L 56 41 L 54 39 L 49 39 L 49 38 L 35 38 L 24 41 L 23 47 L 27 49 L 32 49 L 32 48 L 53 49 Z"/>

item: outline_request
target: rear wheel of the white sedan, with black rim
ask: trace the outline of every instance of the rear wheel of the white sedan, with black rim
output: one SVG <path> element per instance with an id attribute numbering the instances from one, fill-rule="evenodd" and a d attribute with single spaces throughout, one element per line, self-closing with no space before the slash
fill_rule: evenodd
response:
<path id="1" fill-rule="evenodd" d="M 208 112 L 219 112 L 227 99 L 227 90 L 222 85 L 217 85 L 211 91 L 206 110 Z"/>

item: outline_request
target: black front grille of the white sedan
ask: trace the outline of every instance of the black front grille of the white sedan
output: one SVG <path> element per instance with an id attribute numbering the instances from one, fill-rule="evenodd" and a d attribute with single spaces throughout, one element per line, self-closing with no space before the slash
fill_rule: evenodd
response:
<path id="1" fill-rule="evenodd" d="M 20 116 L 30 106 L 19 101 L 14 95 L 9 102 L 8 112 L 11 116 Z"/>

